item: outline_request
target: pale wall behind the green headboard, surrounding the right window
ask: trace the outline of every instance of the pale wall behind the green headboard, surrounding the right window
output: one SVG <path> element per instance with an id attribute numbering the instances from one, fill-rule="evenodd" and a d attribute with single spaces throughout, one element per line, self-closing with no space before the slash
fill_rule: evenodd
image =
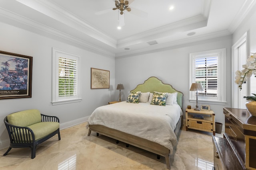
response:
<path id="1" fill-rule="evenodd" d="M 116 59 L 116 83 L 124 84 L 122 100 L 128 91 L 142 84 L 150 76 L 156 76 L 162 82 L 171 84 L 173 88 L 183 92 L 183 112 L 186 106 L 195 107 L 189 102 L 189 53 L 226 48 L 226 105 L 211 104 L 216 121 L 224 124 L 223 107 L 231 106 L 231 46 L 232 36 L 218 37 L 165 48 L 156 52 Z M 200 106 L 202 103 L 199 103 Z"/>

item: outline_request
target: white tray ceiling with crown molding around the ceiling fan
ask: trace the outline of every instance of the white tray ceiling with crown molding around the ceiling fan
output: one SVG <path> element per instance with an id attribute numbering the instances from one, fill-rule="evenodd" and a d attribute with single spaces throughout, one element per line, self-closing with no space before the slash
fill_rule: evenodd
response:
<path id="1" fill-rule="evenodd" d="M 114 0 L 0 0 L 0 21 L 121 57 L 230 35 L 256 4 L 256 0 L 130 2 L 131 12 L 125 12 L 120 30 L 118 10 L 112 10 Z M 170 6 L 174 9 L 169 10 Z M 149 41 L 158 44 L 149 45 Z"/>

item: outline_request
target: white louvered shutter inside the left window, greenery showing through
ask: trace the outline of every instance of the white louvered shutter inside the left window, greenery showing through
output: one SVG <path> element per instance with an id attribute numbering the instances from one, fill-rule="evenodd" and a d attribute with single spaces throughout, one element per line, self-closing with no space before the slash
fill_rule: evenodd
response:
<path id="1" fill-rule="evenodd" d="M 58 96 L 77 95 L 77 61 L 59 57 Z"/>

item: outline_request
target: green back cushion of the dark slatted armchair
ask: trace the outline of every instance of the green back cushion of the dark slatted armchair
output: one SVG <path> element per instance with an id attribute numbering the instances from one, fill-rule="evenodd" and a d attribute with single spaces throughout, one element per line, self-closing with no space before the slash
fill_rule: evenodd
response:
<path id="1" fill-rule="evenodd" d="M 27 127 L 42 121 L 41 113 L 37 109 L 18 111 L 7 115 L 8 123 L 14 126 Z"/>

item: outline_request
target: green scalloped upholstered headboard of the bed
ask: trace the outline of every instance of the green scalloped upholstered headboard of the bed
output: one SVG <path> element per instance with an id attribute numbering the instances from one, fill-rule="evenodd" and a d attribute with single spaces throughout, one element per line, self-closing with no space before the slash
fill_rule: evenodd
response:
<path id="1" fill-rule="evenodd" d="M 175 90 L 172 88 L 170 84 L 164 84 L 161 80 L 159 80 L 156 77 L 150 77 L 148 80 L 146 80 L 143 84 L 139 84 L 135 89 L 131 90 L 131 92 L 150 92 L 153 93 L 156 92 L 178 92 L 177 95 L 177 103 L 182 108 L 182 96 L 183 93 Z"/>

